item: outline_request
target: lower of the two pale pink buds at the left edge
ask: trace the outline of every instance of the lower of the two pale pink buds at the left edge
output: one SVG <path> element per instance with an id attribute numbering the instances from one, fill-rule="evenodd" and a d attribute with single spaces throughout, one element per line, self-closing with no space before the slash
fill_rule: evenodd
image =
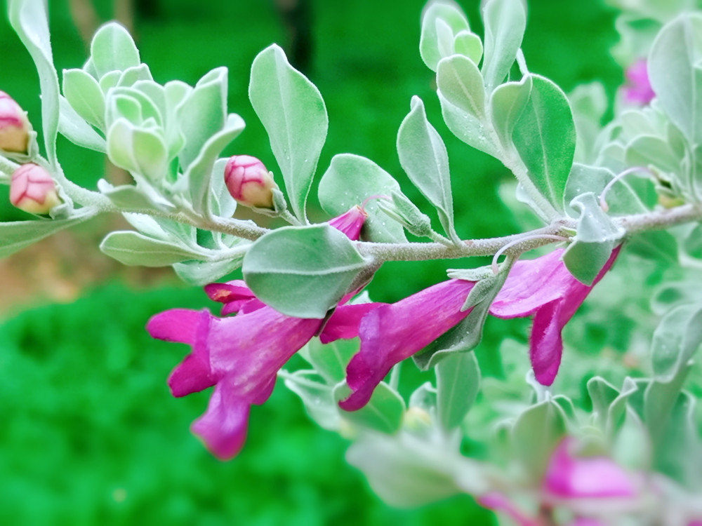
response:
<path id="1" fill-rule="evenodd" d="M 27 163 L 12 174 L 10 202 L 32 214 L 46 214 L 61 200 L 51 175 L 34 163 Z"/>

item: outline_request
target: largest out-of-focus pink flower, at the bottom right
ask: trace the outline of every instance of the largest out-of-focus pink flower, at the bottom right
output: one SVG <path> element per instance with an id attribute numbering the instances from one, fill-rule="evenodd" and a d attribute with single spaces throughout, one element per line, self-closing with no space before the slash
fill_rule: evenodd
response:
<path id="1" fill-rule="evenodd" d="M 550 499 L 621 499 L 635 497 L 632 478 L 608 457 L 576 457 L 575 441 L 564 438 L 552 453 L 543 479 Z"/>

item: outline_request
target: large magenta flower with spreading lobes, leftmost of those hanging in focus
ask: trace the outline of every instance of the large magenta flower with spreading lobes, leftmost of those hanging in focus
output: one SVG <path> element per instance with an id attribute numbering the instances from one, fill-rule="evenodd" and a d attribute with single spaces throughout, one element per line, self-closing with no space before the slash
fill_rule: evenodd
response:
<path id="1" fill-rule="evenodd" d="M 364 220 L 355 215 L 356 222 Z M 344 222 L 353 235 L 355 222 Z M 260 302 L 244 281 L 212 283 L 207 295 L 223 304 L 220 318 L 207 310 L 171 309 L 153 316 L 149 334 L 168 342 L 192 346 L 168 377 L 173 396 L 185 396 L 215 386 L 206 412 L 192 424 L 216 457 L 234 457 L 244 445 L 249 409 L 272 392 L 278 370 L 294 353 L 320 332 L 322 342 L 358 334 L 361 318 L 378 304 L 345 305 L 326 321 L 291 318 Z M 227 316 L 236 314 L 236 316 Z"/>

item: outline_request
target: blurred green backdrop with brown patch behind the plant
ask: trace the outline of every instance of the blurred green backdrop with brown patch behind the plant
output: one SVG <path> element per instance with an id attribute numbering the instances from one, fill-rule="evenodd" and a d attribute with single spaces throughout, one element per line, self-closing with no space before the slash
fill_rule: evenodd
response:
<path id="1" fill-rule="evenodd" d="M 85 43 L 69 3 L 49 4 L 57 68 L 80 67 Z M 477 0 L 460 4 L 482 34 Z M 334 154 L 368 156 L 423 203 L 395 151 L 409 100 L 420 95 L 449 150 L 459 234 L 510 234 L 519 227 L 497 196 L 508 174 L 455 139 L 440 119 L 432 72 L 418 53 L 422 7 L 422 0 L 310 0 L 306 73 L 321 90 L 330 121 L 318 175 Z M 194 84 L 209 69 L 229 67 L 230 111 L 241 114 L 247 128 L 226 153 L 252 154 L 274 167 L 247 97 L 256 53 L 272 42 L 289 46 L 273 1 L 151 0 L 132 8 L 124 20 L 133 23 L 142 60 L 157 81 Z M 109 20 L 113 9 L 110 1 L 96 2 L 95 20 Z M 523 46 L 529 68 L 566 91 L 602 81 L 611 98 L 623 81 L 609 56 L 615 16 L 597 0 L 531 1 Z M 37 75 L 5 21 L 0 49 L 0 89 L 38 128 Z M 59 155 L 67 175 L 81 184 L 95 187 L 105 176 L 99 154 L 60 140 Z M 0 219 L 22 215 L 6 207 Z M 101 236 L 121 224 L 116 217 L 100 219 L 0 262 L 0 524 L 495 523 L 469 497 L 409 511 L 385 506 L 345 465 L 345 440 L 313 426 L 282 386 L 254 407 L 240 456 L 227 463 L 213 459 L 188 431 L 209 393 L 176 400 L 165 384 L 187 348 L 153 341 L 143 329 L 153 313 L 201 308 L 206 298 L 169 269 L 125 269 L 102 257 L 96 248 Z M 371 295 L 395 301 L 442 279 L 446 266 L 387 264 Z M 483 346 L 496 344 L 508 327 L 489 325 Z"/>

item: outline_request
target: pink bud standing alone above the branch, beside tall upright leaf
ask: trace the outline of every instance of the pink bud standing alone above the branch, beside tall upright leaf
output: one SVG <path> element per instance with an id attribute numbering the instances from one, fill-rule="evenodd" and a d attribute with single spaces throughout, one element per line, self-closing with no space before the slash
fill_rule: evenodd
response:
<path id="1" fill-rule="evenodd" d="M 237 203 L 254 208 L 273 208 L 272 189 L 277 186 L 256 157 L 232 156 L 225 166 L 224 180 Z"/>

